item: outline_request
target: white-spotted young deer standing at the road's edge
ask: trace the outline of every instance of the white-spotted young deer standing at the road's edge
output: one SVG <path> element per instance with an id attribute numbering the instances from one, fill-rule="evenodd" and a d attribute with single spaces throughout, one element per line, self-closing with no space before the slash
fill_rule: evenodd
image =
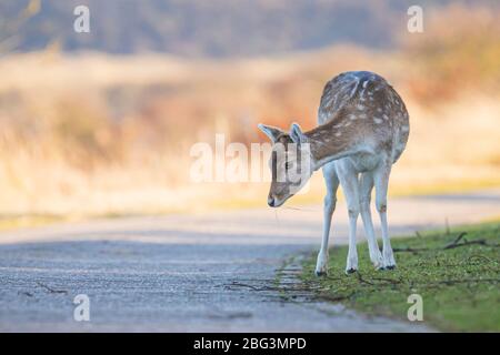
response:
<path id="1" fill-rule="evenodd" d="M 292 124 L 289 133 L 259 124 L 271 139 L 273 154 L 270 161 L 272 182 L 268 197 L 271 207 L 278 207 L 304 185 L 312 172 L 322 168 L 327 184 L 324 226 L 316 274 L 328 272 L 328 239 L 331 216 L 336 209 L 339 183 L 349 211 L 349 252 L 346 273 L 358 270 L 356 225 L 359 213 L 376 268 L 392 270 L 394 256 L 388 234 L 387 192 L 391 166 L 404 150 L 410 131 L 404 103 L 381 77 L 367 71 L 344 72 L 327 83 L 318 111 L 319 125 L 302 132 Z M 276 154 L 283 146 L 284 154 Z M 293 153 L 307 155 L 297 159 Z M 304 164 L 307 166 L 304 166 Z M 287 178 L 289 170 L 301 172 L 300 181 Z M 371 191 L 376 187 L 376 206 L 380 215 L 383 248 L 380 253 L 370 213 Z"/>

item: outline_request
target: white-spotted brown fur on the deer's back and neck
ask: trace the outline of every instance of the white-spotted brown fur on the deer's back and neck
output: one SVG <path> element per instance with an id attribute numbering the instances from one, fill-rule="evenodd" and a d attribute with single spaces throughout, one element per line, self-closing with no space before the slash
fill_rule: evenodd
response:
<path id="1" fill-rule="evenodd" d="M 370 72 L 342 73 L 327 83 L 318 111 L 319 126 L 306 132 L 317 160 L 373 140 L 376 152 L 396 162 L 408 141 L 408 112 L 398 93 Z"/>

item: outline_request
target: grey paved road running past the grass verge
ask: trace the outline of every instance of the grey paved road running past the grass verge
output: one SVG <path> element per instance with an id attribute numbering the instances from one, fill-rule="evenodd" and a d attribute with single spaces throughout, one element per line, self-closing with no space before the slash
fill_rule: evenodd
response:
<path id="1" fill-rule="evenodd" d="M 392 234 L 500 215 L 500 191 L 392 199 Z M 360 229 L 362 232 L 362 229 Z M 290 255 L 318 248 L 321 207 L 170 215 L 0 234 L 0 331 L 429 331 L 273 291 Z M 347 213 L 332 244 L 347 242 Z M 284 282 L 293 283 L 293 265 Z M 77 294 L 90 322 L 73 320 Z"/>

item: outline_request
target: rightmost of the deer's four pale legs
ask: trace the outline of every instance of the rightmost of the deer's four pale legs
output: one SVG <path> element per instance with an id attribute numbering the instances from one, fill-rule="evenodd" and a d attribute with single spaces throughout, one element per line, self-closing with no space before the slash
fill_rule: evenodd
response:
<path id="1" fill-rule="evenodd" d="M 382 260 L 383 267 L 392 270 L 396 267 L 394 254 L 392 253 L 391 241 L 387 224 L 387 192 L 389 187 L 389 175 L 391 173 L 391 164 L 382 164 L 373 174 L 376 185 L 376 205 L 380 215 L 380 224 L 382 229 Z"/>

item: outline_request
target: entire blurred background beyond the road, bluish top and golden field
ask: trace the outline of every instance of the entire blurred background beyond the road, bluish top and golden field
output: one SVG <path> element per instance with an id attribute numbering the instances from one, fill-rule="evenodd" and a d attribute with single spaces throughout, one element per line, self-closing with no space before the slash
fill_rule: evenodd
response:
<path id="1" fill-rule="evenodd" d="M 80 4 L 90 33 L 73 31 Z M 500 186 L 497 0 L 0 0 L 0 227 L 264 206 L 266 182 L 191 182 L 190 148 L 312 129 L 347 70 L 407 103 L 391 194 Z M 323 189 L 317 174 L 290 204 Z"/>

